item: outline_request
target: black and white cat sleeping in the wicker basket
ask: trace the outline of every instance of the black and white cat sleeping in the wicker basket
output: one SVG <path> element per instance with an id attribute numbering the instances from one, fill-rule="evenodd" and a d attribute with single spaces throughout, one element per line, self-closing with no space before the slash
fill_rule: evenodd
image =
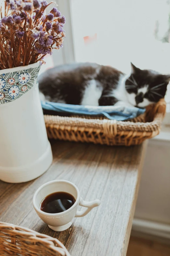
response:
<path id="1" fill-rule="evenodd" d="M 164 98 L 170 75 L 141 70 L 132 63 L 129 76 L 110 66 L 74 63 L 49 69 L 38 80 L 43 101 L 144 108 Z"/>

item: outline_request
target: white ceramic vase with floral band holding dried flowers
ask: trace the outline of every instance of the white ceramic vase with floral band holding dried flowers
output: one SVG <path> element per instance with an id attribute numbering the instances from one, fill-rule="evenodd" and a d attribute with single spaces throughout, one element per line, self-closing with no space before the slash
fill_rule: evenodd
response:
<path id="1" fill-rule="evenodd" d="M 0 179 L 26 182 L 42 175 L 51 165 L 39 98 L 40 64 L 0 70 Z"/>

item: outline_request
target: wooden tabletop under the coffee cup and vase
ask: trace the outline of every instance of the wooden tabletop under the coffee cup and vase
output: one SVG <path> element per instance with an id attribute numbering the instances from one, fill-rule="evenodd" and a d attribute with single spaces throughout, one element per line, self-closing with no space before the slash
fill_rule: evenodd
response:
<path id="1" fill-rule="evenodd" d="M 110 147 L 51 141 L 53 164 L 40 178 L 21 184 L 0 181 L 0 221 L 59 239 L 72 256 L 126 255 L 147 143 Z M 88 215 L 54 232 L 34 211 L 35 190 L 53 179 L 75 183 L 84 200 L 101 200 Z"/>

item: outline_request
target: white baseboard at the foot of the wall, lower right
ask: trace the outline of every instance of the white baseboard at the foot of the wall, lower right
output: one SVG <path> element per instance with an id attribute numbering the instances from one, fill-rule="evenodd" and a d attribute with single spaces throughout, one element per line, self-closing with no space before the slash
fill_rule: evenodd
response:
<path id="1" fill-rule="evenodd" d="M 170 239 L 170 225 L 134 218 L 132 230 Z"/>

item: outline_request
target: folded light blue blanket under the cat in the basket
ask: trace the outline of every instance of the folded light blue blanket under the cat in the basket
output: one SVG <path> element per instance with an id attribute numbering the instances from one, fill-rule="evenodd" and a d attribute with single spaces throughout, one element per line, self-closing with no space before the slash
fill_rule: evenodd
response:
<path id="1" fill-rule="evenodd" d="M 135 118 L 145 109 L 121 106 L 82 106 L 41 101 L 42 108 L 48 111 L 65 112 L 83 115 L 104 115 L 111 120 L 124 121 Z"/>

